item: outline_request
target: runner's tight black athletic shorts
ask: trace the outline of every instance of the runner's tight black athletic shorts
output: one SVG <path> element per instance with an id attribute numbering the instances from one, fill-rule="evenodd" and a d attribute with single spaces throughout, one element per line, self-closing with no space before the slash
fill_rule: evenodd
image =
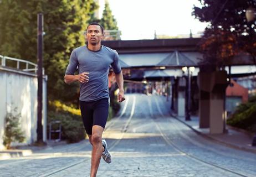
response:
<path id="1" fill-rule="evenodd" d="M 81 101 L 80 110 L 87 134 L 91 135 L 93 126 L 105 128 L 107 116 L 109 116 L 109 98 L 101 98 L 96 101 Z"/>

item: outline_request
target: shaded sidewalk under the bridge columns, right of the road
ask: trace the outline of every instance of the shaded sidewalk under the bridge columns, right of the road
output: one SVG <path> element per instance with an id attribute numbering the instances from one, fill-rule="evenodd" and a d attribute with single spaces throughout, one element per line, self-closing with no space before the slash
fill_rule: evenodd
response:
<path id="1" fill-rule="evenodd" d="M 209 128 L 199 128 L 199 118 L 191 116 L 191 121 L 185 121 L 185 117 L 175 117 L 178 121 L 186 124 L 194 132 L 201 136 L 214 140 L 228 147 L 256 153 L 256 147 L 252 146 L 253 134 L 242 129 L 226 126 L 227 133 L 210 134 Z"/>

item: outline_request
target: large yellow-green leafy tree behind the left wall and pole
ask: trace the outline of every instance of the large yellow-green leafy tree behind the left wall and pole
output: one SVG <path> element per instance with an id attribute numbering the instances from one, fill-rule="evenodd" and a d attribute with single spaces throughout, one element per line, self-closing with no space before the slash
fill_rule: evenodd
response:
<path id="1" fill-rule="evenodd" d="M 37 62 L 37 14 L 44 14 L 44 68 L 50 100 L 73 101 L 78 87 L 63 78 L 71 50 L 85 43 L 84 30 L 97 8 L 93 0 L 29 0 L 0 3 L 0 54 Z"/>

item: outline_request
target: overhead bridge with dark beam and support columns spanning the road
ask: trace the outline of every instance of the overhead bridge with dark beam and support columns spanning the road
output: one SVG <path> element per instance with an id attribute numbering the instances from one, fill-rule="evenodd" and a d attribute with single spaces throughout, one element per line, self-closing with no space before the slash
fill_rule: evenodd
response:
<path id="1" fill-rule="evenodd" d="M 125 79 L 142 83 L 165 81 L 165 85 L 170 85 L 168 90 L 172 95 L 173 112 L 178 116 L 189 117 L 191 97 L 199 107 L 199 127 L 209 128 L 210 133 L 223 133 L 226 119 L 223 107 L 225 91 L 232 75 L 255 75 L 256 68 L 252 56 L 243 53 L 225 63 L 224 70 L 209 71 L 201 64 L 203 55 L 199 52 L 200 40 L 112 40 L 103 41 L 102 44 L 119 53 Z M 187 71 L 182 71 L 184 67 L 187 67 Z M 194 70 L 192 79 L 190 68 Z M 190 88 L 194 91 L 191 96 L 188 95 Z M 185 107 L 188 111 L 185 111 Z"/>

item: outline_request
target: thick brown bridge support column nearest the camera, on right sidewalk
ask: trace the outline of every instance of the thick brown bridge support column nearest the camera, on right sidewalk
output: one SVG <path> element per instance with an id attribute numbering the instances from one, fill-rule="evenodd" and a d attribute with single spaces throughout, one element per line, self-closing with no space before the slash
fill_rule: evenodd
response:
<path id="1" fill-rule="evenodd" d="M 226 114 L 224 103 L 226 97 L 227 72 L 213 71 L 198 73 L 199 127 L 208 128 L 209 133 L 224 133 Z"/>

